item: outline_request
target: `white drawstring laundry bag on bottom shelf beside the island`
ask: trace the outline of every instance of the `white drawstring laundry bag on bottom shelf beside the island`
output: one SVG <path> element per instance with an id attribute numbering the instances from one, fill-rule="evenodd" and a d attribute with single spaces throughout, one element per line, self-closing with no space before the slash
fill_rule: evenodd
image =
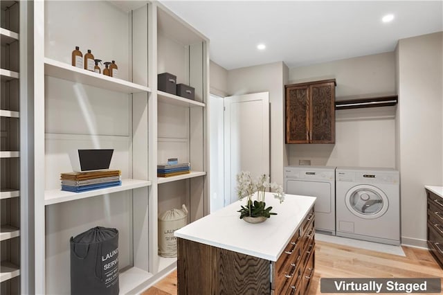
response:
<path id="1" fill-rule="evenodd" d="M 181 210 L 172 209 L 159 216 L 159 255 L 177 257 L 177 240 L 174 231 L 186 226 L 188 209 L 183 204 Z"/>

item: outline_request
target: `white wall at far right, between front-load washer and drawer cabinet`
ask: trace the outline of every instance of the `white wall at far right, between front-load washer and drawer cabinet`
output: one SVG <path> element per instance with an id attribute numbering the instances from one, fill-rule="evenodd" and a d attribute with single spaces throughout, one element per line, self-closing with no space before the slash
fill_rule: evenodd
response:
<path id="1" fill-rule="evenodd" d="M 424 185 L 443 185 L 443 33 L 399 40 L 397 47 L 401 241 L 426 247 Z"/>

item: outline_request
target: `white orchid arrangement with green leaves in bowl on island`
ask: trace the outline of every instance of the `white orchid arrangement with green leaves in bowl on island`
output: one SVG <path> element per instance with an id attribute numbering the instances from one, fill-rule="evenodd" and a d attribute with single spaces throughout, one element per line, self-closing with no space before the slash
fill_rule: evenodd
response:
<path id="1" fill-rule="evenodd" d="M 248 198 L 246 206 L 242 206 L 242 209 L 238 211 L 241 213 L 240 219 L 246 216 L 264 216 L 269 218 L 271 215 L 277 215 L 277 213 L 271 212 L 271 206 L 266 208 L 264 193 L 268 188 L 273 191 L 274 197 L 278 199 L 281 204 L 284 201 L 283 188 L 275 182 L 269 183 L 269 176 L 260 175 L 256 179 L 253 179 L 251 172 L 239 172 L 237 175 L 237 195 L 240 200 L 244 199 L 244 197 Z M 256 196 L 255 200 L 253 200 L 254 195 Z"/>

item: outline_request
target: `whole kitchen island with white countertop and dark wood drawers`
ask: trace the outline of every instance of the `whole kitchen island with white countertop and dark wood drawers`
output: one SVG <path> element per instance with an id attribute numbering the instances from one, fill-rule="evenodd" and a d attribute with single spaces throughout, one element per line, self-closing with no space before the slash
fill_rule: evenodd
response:
<path id="1" fill-rule="evenodd" d="M 175 231 L 178 292 L 304 294 L 314 274 L 315 197 L 266 193 L 271 218 L 239 219 L 235 202 Z"/>

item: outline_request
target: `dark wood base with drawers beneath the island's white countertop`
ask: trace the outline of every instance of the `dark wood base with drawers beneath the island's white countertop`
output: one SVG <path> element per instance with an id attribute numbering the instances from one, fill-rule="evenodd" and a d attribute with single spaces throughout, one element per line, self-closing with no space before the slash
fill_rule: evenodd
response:
<path id="1" fill-rule="evenodd" d="M 314 226 L 311 208 L 275 262 L 177 238 L 178 294 L 308 294 Z"/>

